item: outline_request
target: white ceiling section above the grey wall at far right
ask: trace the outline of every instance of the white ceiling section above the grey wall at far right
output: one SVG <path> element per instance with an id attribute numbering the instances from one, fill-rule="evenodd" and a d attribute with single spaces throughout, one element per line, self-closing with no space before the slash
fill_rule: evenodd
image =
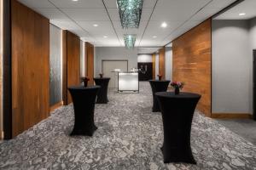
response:
<path id="1" fill-rule="evenodd" d="M 239 15 L 244 13 L 245 15 Z M 214 20 L 249 20 L 256 17 L 256 0 L 245 0 L 219 14 Z"/>

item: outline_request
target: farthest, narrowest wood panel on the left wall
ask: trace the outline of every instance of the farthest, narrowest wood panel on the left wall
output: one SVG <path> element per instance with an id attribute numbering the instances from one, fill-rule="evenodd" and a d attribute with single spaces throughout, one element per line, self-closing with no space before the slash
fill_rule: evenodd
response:
<path id="1" fill-rule="evenodd" d="M 94 77 L 94 46 L 85 42 L 86 77 L 90 77 L 88 84 L 93 85 Z"/>

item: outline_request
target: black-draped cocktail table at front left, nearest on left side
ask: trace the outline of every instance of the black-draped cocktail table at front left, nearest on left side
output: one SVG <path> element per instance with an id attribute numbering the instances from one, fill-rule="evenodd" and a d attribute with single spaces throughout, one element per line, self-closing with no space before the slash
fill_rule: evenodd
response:
<path id="1" fill-rule="evenodd" d="M 100 86 L 69 87 L 73 99 L 74 126 L 70 135 L 92 136 L 97 127 L 94 123 L 96 94 Z"/>

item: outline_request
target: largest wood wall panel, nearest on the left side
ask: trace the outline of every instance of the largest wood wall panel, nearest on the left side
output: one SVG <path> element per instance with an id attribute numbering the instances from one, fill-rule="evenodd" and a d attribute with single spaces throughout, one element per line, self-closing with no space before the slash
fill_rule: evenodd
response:
<path id="1" fill-rule="evenodd" d="M 12 136 L 49 116 L 49 20 L 11 2 Z"/>

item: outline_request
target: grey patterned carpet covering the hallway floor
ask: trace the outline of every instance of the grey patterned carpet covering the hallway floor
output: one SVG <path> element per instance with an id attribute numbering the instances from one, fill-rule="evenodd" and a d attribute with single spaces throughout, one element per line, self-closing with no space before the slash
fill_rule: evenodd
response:
<path id="1" fill-rule="evenodd" d="M 0 169 L 256 169 L 256 146 L 195 112 L 191 145 L 197 165 L 164 164 L 160 113 L 151 112 L 151 90 L 109 93 L 96 105 L 96 133 L 70 137 L 73 106 L 61 107 L 17 138 L 0 144 Z"/>

